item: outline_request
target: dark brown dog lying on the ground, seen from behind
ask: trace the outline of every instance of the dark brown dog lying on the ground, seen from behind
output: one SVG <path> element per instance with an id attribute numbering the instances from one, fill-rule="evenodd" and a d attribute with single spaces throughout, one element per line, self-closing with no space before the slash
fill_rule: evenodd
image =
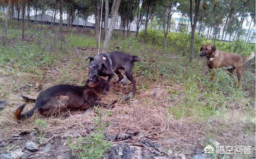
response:
<path id="1" fill-rule="evenodd" d="M 36 105 L 27 113 L 21 114 L 25 107 L 25 104 L 22 104 L 15 111 L 14 116 L 18 120 L 24 120 L 31 117 L 36 110 L 45 116 L 59 113 L 65 109 L 80 109 L 84 111 L 94 104 L 104 89 L 108 91 L 109 84 L 102 78 L 98 78 L 96 83 L 85 86 L 54 85 L 41 91 L 36 100 L 25 99 L 26 101 L 36 101 Z"/>

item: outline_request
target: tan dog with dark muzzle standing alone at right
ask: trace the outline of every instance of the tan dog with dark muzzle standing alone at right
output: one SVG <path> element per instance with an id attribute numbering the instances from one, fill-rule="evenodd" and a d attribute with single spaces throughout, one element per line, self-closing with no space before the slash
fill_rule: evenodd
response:
<path id="1" fill-rule="evenodd" d="M 225 53 L 220 50 L 216 50 L 216 47 L 212 44 L 204 44 L 200 49 L 201 54 L 200 56 L 207 58 L 207 66 L 211 70 L 215 68 L 228 68 L 228 72 L 232 74 L 236 69 L 236 75 L 238 78 L 238 83 L 241 81 L 242 76 L 242 68 L 243 68 L 243 61 L 244 60 L 251 60 L 254 58 L 254 53 L 251 52 L 250 56 L 242 57 L 238 54 L 234 53 Z M 211 79 L 214 78 L 214 74 L 212 73 Z"/>

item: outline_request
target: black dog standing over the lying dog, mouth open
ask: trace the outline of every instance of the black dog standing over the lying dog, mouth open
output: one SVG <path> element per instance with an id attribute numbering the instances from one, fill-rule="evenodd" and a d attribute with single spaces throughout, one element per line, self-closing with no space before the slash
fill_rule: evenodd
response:
<path id="1" fill-rule="evenodd" d="M 132 56 L 125 52 L 109 52 L 96 54 L 93 57 L 89 57 L 86 60 L 90 59 L 88 65 L 89 68 L 89 77 L 86 81 L 86 84 L 94 76 L 108 76 L 108 83 L 113 78 L 114 73 L 119 77 L 116 83 L 119 83 L 124 77 L 122 76 L 120 70 L 124 70 L 126 77 L 132 82 L 132 92 L 136 92 L 136 83 L 132 78 L 132 69 L 134 62 L 140 62 L 141 59 L 137 56 Z"/>

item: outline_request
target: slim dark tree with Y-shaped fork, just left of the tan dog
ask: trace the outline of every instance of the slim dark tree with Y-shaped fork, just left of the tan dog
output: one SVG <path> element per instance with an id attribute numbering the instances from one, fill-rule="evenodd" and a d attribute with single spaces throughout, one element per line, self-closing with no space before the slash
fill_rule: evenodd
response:
<path id="1" fill-rule="evenodd" d="M 190 26 L 191 26 L 191 40 L 190 40 L 190 62 L 192 62 L 193 60 L 193 56 L 194 56 L 194 39 L 195 39 L 195 31 L 196 31 L 196 23 L 197 23 L 197 18 L 198 18 L 198 11 L 199 11 L 199 7 L 200 7 L 200 0 L 189 0 L 190 2 Z M 194 8 L 194 16 L 192 19 L 192 9 L 193 9 L 193 4 L 195 5 Z"/>

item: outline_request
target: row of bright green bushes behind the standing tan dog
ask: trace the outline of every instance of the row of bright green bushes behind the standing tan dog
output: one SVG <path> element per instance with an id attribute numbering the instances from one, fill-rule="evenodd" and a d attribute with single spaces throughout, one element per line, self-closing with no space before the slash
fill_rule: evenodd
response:
<path id="1" fill-rule="evenodd" d="M 141 31 L 138 34 L 139 40 L 142 41 L 144 32 Z M 172 47 L 178 54 L 189 53 L 191 34 L 186 34 L 186 32 L 169 32 L 167 45 Z M 164 40 L 164 34 L 160 30 L 148 29 L 146 42 L 154 45 L 162 46 Z M 214 44 L 218 50 L 224 52 L 233 52 L 242 56 L 250 55 L 250 52 L 255 50 L 254 44 L 244 44 L 244 41 L 235 40 L 234 42 L 222 42 L 222 41 L 212 41 L 206 40 L 204 37 L 198 37 L 198 32 L 195 34 L 194 41 L 194 52 L 199 53 L 200 48 L 203 44 L 210 43 Z"/>

